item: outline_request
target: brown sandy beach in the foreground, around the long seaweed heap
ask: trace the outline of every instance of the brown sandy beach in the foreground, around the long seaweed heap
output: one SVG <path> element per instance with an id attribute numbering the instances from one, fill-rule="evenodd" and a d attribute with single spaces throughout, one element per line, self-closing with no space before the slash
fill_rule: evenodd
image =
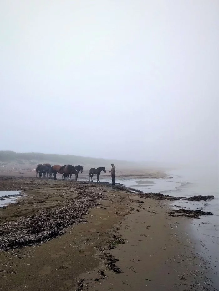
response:
<path id="1" fill-rule="evenodd" d="M 1 227 L 18 225 L 10 229 L 11 236 L 31 230 L 28 223 L 22 224 L 28 217 L 63 209 L 77 199 L 87 203 L 88 194 L 102 195 L 81 222 L 56 237 L 4 247 L 0 290 L 214 290 L 195 242 L 185 233 L 188 219 L 170 217 L 164 201 L 142 198 L 122 187 L 92 185 L 0 178 L 0 190 L 27 193 L 18 203 L 0 208 Z M 0 243 L 5 236 L 0 232 Z"/>

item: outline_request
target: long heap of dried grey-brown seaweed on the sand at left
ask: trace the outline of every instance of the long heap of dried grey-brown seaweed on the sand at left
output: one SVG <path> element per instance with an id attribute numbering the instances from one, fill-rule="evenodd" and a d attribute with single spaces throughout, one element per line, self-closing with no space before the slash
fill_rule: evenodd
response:
<path id="1" fill-rule="evenodd" d="M 90 207 L 99 205 L 98 199 L 104 199 L 104 194 L 99 191 L 84 191 L 61 207 L 41 210 L 36 215 L 1 224 L 0 249 L 35 244 L 63 233 L 65 227 L 84 222 L 81 220 L 82 216 Z"/>

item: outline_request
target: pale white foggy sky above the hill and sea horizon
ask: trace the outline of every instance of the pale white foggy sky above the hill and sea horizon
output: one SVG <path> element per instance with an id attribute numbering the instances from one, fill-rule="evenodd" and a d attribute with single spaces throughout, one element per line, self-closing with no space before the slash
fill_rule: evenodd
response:
<path id="1" fill-rule="evenodd" d="M 0 150 L 218 161 L 219 2 L 1 1 Z"/>

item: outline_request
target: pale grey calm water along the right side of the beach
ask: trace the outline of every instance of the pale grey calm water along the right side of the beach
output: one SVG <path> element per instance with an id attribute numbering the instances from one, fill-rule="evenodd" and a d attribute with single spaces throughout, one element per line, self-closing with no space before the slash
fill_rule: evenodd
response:
<path id="1" fill-rule="evenodd" d="M 117 183 L 145 192 L 163 193 L 176 197 L 196 195 L 213 195 L 206 201 L 174 201 L 171 206 L 190 210 L 210 211 L 214 215 L 202 215 L 192 219 L 189 229 L 185 231 L 196 240 L 196 252 L 202 256 L 211 271 L 213 286 L 219 290 L 219 184 L 218 171 L 212 167 L 184 167 L 171 170 L 172 178 L 151 179 L 137 178 L 116 179 Z M 105 180 L 110 181 L 110 180 Z M 176 207 L 178 206 L 178 207 Z"/>

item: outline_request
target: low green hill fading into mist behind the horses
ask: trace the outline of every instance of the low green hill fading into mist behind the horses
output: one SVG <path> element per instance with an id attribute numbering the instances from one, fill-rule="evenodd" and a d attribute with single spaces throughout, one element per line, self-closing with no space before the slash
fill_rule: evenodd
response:
<path id="1" fill-rule="evenodd" d="M 16 153 L 14 151 L 0 151 L 0 164 L 15 164 L 15 165 L 37 165 L 41 163 L 51 163 L 51 165 L 72 164 L 72 165 L 89 165 L 93 167 L 110 166 L 111 163 L 120 167 L 139 167 L 135 162 L 122 160 L 106 160 L 90 157 L 82 157 L 77 155 L 58 155 L 58 154 L 43 154 L 43 153 Z"/>

